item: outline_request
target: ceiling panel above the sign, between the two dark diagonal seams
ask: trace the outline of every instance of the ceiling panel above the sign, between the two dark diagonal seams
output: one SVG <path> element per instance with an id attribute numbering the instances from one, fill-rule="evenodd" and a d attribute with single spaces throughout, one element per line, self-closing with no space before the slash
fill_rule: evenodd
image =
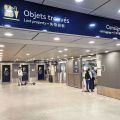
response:
<path id="1" fill-rule="evenodd" d="M 67 10 L 89 13 L 106 1 L 108 0 L 84 0 L 84 2 L 76 3 L 75 0 L 45 0 L 44 4 Z"/>

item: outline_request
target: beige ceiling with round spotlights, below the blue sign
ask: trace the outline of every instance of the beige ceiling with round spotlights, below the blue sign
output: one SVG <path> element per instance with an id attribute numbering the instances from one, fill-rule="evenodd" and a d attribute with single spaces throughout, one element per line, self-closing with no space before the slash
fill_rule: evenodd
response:
<path id="1" fill-rule="evenodd" d="M 13 36 L 6 37 L 5 32 L 10 32 Z M 61 40 L 54 41 L 55 37 L 59 37 Z M 95 44 L 91 45 L 88 43 L 89 41 L 95 41 Z M 120 50 L 120 47 L 116 47 L 117 43 L 120 42 L 112 39 L 0 28 L 0 44 L 5 45 L 4 48 L 0 48 L 0 50 L 4 50 L 3 61 L 80 57 L 80 55 L 97 54 L 106 50 Z M 65 48 L 68 51 L 65 51 Z M 86 52 L 88 49 L 89 53 Z M 62 53 L 59 53 L 59 50 Z M 30 55 L 27 56 L 27 53 Z"/>

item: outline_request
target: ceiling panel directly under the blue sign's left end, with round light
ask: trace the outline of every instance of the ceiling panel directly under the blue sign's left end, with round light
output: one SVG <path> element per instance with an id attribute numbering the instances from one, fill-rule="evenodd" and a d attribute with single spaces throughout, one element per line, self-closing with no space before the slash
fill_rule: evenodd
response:
<path id="1" fill-rule="evenodd" d="M 32 32 L 32 31 L 0 28 L 0 37 L 8 38 L 4 35 L 5 33 L 12 33 L 13 36 L 9 38 L 20 39 L 20 40 L 22 39 L 31 40 L 37 34 L 37 32 Z"/>

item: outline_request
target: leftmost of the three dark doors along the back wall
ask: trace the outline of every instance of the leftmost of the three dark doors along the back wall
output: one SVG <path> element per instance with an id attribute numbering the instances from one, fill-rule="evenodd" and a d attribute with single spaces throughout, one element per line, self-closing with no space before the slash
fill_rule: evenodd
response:
<path id="1" fill-rule="evenodd" d="M 2 66 L 2 82 L 10 82 L 10 65 Z"/>

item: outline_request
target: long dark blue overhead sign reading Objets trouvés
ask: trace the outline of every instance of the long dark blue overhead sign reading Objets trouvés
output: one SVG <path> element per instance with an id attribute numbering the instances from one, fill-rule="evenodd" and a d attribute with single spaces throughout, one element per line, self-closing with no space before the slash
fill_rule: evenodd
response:
<path id="1" fill-rule="evenodd" d="M 0 1 L 0 25 L 120 39 L 120 21 L 24 0 Z"/>

